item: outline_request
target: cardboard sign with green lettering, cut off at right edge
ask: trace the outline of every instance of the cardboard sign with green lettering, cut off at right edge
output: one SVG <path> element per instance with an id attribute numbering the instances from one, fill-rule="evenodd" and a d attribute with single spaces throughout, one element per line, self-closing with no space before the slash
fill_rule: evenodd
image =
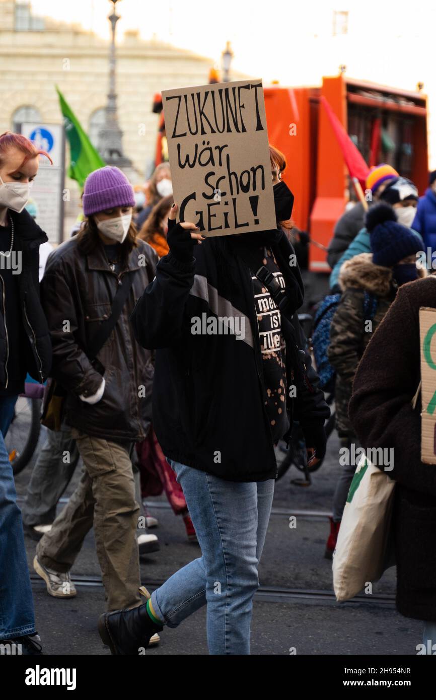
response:
<path id="1" fill-rule="evenodd" d="M 419 309 L 421 461 L 436 464 L 436 309 Z"/>

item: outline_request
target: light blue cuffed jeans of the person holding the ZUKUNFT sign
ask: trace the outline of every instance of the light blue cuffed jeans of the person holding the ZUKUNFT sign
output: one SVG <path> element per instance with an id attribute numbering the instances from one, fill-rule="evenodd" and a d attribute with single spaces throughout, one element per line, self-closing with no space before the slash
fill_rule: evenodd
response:
<path id="1" fill-rule="evenodd" d="M 176 472 L 202 556 L 153 591 L 155 615 L 169 627 L 207 605 L 209 654 L 249 654 L 253 596 L 267 533 L 274 479 L 229 482 L 167 460 Z"/>

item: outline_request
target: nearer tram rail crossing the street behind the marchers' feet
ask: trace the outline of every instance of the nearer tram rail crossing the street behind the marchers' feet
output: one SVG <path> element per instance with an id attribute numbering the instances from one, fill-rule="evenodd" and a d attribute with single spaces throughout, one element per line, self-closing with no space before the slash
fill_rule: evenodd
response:
<path id="1" fill-rule="evenodd" d="M 45 582 L 36 574 L 31 574 L 30 580 L 32 584 L 41 584 L 41 587 L 45 587 Z M 71 582 L 73 582 L 76 587 L 103 587 L 99 576 L 72 575 Z M 147 580 L 142 582 L 150 591 L 162 586 L 163 583 L 163 580 Z M 265 603 L 302 603 L 306 605 L 377 605 L 383 608 L 391 608 L 395 605 L 395 596 L 391 594 L 360 594 L 351 598 L 350 601 L 338 603 L 333 591 L 283 588 L 277 586 L 260 586 L 255 593 L 255 599 Z"/>

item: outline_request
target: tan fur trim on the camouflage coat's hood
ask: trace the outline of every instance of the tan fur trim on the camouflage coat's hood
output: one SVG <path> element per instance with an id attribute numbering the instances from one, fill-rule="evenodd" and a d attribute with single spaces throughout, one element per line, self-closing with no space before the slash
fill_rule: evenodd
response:
<path id="1" fill-rule="evenodd" d="M 418 268 L 418 277 L 426 276 L 426 269 Z M 342 291 L 350 287 L 360 287 L 377 297 L 386 297 L 393 286 L 391 267 L 374 265 L 372 253 L 360 253 L 346 260 L 339 272 L 339 286 Z"/>

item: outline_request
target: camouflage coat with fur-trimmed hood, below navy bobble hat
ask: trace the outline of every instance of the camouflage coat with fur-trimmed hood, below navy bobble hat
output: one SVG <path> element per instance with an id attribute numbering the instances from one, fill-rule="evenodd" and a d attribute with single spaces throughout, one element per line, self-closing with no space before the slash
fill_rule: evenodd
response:
<path id="1" fill-rule="evenodd" d="M 339 437 L 352 437 L 348 405 L 354 374 L 367 344 L 395 297 L 397 286 L 391 267 L 374 265 L 371 253 L 360 253 L 346 260 L 339 273 L 339 285 L 343 294 L 330 325 L 328 359 L 337 371 L 337 432 Z M 371 318 L 365 314 L 365 292 L 374 301 L 375 313 Z"/>

